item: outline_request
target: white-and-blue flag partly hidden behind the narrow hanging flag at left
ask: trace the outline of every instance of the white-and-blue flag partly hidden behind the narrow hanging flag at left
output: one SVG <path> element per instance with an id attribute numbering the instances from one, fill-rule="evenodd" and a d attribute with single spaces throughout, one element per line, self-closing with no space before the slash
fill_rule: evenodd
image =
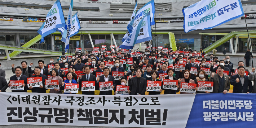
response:
<path id="1" fill-rule="evenodd" d="M 64 27 L 58 28 L 57 31 L 61 32 L 61 35 L 62 35 L 64 32 L 64 29 L 65 29 Z M 75 34 L 78 34 L 79 29 L 81 29 L 81 27 L 80 27 L 80 22 L 79 22 L 77 12 L 76 12 L 76 14 L 72 17 L 70 37 L 74 36 Z"/>

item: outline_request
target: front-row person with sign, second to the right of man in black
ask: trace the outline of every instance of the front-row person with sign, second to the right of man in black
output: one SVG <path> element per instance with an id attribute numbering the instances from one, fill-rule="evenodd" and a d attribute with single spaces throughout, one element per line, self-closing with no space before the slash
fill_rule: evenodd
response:
<path id="1" fill-rule="evenodd" d="M 169 68 L 167 70 L 168 76 L 166 76 L 164 79 L 169 79 L 169 80 L 178 80 L 176 77 L 173 77 L 174 70 L 172 68 Z M 177 84 L 177 88 L 179 88 L 179 85 Z M 163 89 L 163 84 L 162 84 L 162 89 Z M 163 89 L 164 90 L 164 95 L 166 94 L 176 94 L 180 90 L 172 90 L 172 89 Z"/>

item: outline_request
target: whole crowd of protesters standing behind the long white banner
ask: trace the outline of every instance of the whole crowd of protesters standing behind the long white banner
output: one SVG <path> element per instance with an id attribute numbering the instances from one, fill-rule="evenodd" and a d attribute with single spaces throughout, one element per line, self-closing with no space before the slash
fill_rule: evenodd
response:
<path id="1" fill-rule="evenodd" d="M 24 84 L 22 84 L 24 90 L 13 90 L 13 92 L 31 90 L 32 93 L 46 93 L 45 80 L 49 79 L 58 80 L 59 83 L 59 87 L 50 89 L 49 93 L 59 94 L 63 93 L 66 83 L 79 84 L 79 90 L 81 90 L 83 81 L 95 81 L 95 90 L 99 90 L 99 82 L 112 81 L 112 89 L 115 93 L 117 85 L 127 85 L 129 86 L 129 95 L 145 95 L 145 92 L 148 91 L 147 81 L 162 81 L 160 91 L 148 91 L 149 95 L 159 95 L 163 90 L 164 94 L 177 94 L 181 89 L 182 82 L 198 84 L 198 82 L 202 81 L 212 81 L 213 90 L 212 92 L 198 91 L 198 87 L 195 87 L 196 93 L 226 94 L 229 92 L 230 85 L 234 86 L 233 93 L 256 93 L 255 68 L 252 68 L 250 72 L 244 67 L 244 62 L 239 61 L 237 63 L 239 67 L 234 69 L 229 56 L 219 60 L 217 56 L 210 54 L 209 58 L 207 58 L 202 48 L 200 51 L 191 51 L 180 47 L 177 51 L 172 49 L 167 51 L 160 49 L 126 51 L 124 49 L 124 51 L 115 49 L 114 51 L 98 53 L 97 55 L 92 54 L 92 51 L 79 52 L 71 56 L 70 60 L 66 58 L 65 52 L 62 52 L 62 56 L 58 57 L 57 60 L 49 58 L 50 63 L 48 64 L 43 60 L 39 60 L 38 66 L 34 70 L 32 69 L 34 63 L 22 61 L 21 66 L 12 64 L 14 75 L 10 77 L 10 81 L 24 81 Z M 128 58 L 132 58 L 132 63 L 128 64 Z M 122 60 L 122 64 L 120 64 L 120 60 Z M 107 62 L 112 64 L 111 68 L 106 66 Z M 185 64 L 185 69 L 175 71 L 175 65 L 181 63 Z M 48 65 L 54 65 L 54 68 L 48 69 Z M 67 68 L 67 71 L 63 71 L 61 68 Z M 196 68 L 197 73 L 191 73 L 191 68 Z M 210 68 L 211 73 L 207 75 L 202 68 Z M 93 69 L 93 72 L 91 72 L 91 69 Z M 78 71 L 81 71 L 80 75 L 77 74 Z M 115 71 L 124 72 L 124 77 L 115 80 L 112 76 L 112 72 Z M 96 77 L 97 72 L 103 72 L 103 75 Z M 227 72 L 226 75 L 224 72 Z M 164 79 L 177 80 L 178 84 L 176 86 L 178 89 L 163 89 L 163 80 L 159 79 L 159 74 L 167 74 Z M 47 76 L 52 77 L 48 78 Z M 42 77 L 43 84 L 39 87 L 28 86 L 27 78 L 29 77 Z M 254 81 L 254 86 L 252 81 Z M 5 74 L 0 76 L 0 92 L 4 92 L 10 86 L 12 84 L 6 82 Z M 94 95 L 95 93 L 94 91 L 83 91 L 82 94 Z M 180 92 L 180 94 L 185 93 Z M 100 95 L 112 95 L 112 91 L 100 91 Z"/>

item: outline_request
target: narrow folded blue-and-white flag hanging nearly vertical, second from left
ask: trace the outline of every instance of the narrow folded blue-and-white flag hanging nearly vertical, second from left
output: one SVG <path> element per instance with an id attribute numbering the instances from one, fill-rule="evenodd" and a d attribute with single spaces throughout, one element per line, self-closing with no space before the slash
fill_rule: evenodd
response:
<path id="1" fill-rule="evenodd" d="M 69 49 L 69 39 L 71 37 L 71 25 L 72 25 L 72 10 L 73 10 L 73 0 L 71 0 L 70 2 L 66 25 L 63 30 L 62 38 L 61 38 L 61 41 L 65 43 L 65 52 L 67 52 L 67 49 Z"/>

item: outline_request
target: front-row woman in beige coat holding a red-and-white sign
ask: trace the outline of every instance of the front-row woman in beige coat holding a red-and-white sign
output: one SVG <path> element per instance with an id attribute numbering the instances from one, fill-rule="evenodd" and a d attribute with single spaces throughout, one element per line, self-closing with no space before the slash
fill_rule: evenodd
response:
<path id="1" fill-rule="evenodd" d="M 53 69 L 52 70 L 52 76 L 51 78 L 49 78 L 49 80 L 58 80 L 59 81 L 59 88 L 58 89 L 50 89 L 50 92 L 49 93 L 58 93 L 58 94 L 61 94 L 62 91 L 60 90 L 60 87 L 62 86 L 62 82 L 63 82 L 63 79 L 58 76 L 58 70 L 57 69 Z"/>

